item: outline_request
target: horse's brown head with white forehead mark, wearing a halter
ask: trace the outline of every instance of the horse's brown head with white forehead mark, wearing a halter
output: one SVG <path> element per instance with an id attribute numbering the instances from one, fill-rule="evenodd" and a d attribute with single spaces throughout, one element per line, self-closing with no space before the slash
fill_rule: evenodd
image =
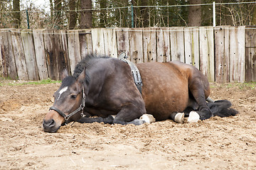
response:
<path id="1" fill-rule="evenodd" d="M 61 125 L 79 120 L 85 106 L 85 69 L 75 78 L 65 70 L 62 84 L 53 94 L 54 103 L 43 119 L 45 132 L 57 132 Z"/>

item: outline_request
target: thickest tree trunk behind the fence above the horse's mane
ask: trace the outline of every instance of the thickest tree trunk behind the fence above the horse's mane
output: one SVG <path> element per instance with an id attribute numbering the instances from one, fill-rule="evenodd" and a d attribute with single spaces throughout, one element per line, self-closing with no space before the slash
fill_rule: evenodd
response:
<path id="1" fill-rule="evenodd" d="M 81 10 L 92 9 L 92 0 L 80 0 Z M 80 15 L 80 28 L 92 28 L 92 10 L 85 10 Z"/>

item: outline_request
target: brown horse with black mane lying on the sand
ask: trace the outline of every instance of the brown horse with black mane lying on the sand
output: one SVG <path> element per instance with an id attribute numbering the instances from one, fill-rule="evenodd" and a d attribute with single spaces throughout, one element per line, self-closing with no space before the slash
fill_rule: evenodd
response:
<path id="1" fill-rule="evenodd" d="M 57 132 L 70 122 L 142 125 L 142 115 L 156 121 L 183 123 L 227 117 L 238 111 L 228 100 L 207 101 L 210 85 L 196 67 L 182 62 L 136 64 L 142 79 L 140 93 L 129 64 L 114 57 L 86 55 L 73 75 L 66 70 L 54 103 L 43 119 L 45 132 Z M 96 117 L 95 117 L 96 116 Z"/>

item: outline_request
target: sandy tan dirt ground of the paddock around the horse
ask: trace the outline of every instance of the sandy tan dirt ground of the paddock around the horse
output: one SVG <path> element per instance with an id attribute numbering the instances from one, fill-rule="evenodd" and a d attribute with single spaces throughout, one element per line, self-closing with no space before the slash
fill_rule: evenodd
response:
<path id="1" fill-rule="evenodd" d="M 2 84 L 4 80 L 1 80 Z M 211 84 L 239 115 L 42 130 L 60 84 L 0 86 L 0 169 L 256 169 L 256 84 Z"/>

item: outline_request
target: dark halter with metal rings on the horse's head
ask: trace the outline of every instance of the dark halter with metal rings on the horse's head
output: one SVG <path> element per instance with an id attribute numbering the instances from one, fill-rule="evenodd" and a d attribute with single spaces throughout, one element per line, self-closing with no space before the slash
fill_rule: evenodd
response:
<path id="1" fill-rule="evenodd" d="M 75 109 L 75 111 L 73 111 L 72 113 L 66 115 L 65 113 L 63 113 L 62 111 L 60 111 L 58 108 L 55 108 L 53 106 L 51 106 L 49 108 L 49 111 L 50 110 L 53 110 L 53 111 L 56 111 L 57 113 L 59 113 L 59 115 L 61 115 L 64 120 L 65 120 L 65 125 L 68 124 L 68 120 L 71 116 L 75 115 L 76 113 L 78 113 L 79 111 L 82 111 L 83 108 L 85 108 L 85 90 L 84 90 L 84 87 L 82 86 L 82 102 L 80 104 L 80 107 L 78 107 L 77 109 Z M 84 116 L 84 113 L 81 112 L 81 116 Z"/>

